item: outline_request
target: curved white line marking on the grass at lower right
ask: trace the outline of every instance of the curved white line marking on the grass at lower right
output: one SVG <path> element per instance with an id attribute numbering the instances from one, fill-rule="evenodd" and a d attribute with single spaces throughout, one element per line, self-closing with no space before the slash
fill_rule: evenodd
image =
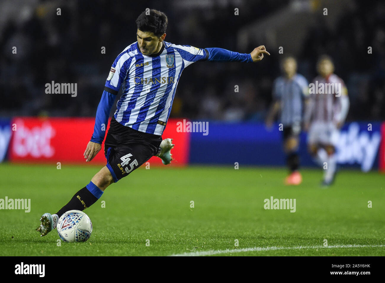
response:
<path id="1" fill-rule="evenodd" d="M 385 247 L 384 244 L 380 245 L 361 245 L 361 244 L 346 244 L 346 245 L 336 245 L 336 246 L 296 246 L 296 247 L 254 247 L 254 248 L 243 248 L 243 249 L 234 249 L 234 250 L 211 250 L 211 251 L 194 251 L 191 253 L 180 253 L 174 254 L 171 256 L 211 256 L 219 255 L 222 253 L 243 253 L 247 251 L 276 251 L 276 250 L 302 250 L 302 249 L 333 249 L 333 248 L 379 248 Z"/>

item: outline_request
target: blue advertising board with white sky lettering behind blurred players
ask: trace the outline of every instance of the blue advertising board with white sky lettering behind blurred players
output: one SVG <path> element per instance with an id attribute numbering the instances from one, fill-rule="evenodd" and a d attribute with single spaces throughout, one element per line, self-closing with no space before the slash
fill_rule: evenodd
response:
<path id="1" fill-rule="evenodd" d="M 337 162 L 343 167 L 363 171 L 378 167 L 381 141 L 380 122 L 351 122 L 341 129 L 336 149 Z M 307 151 L 307 134 L 300 136 L 301 166 L 316 166 Z M 278 124 L 271 130 L 259 123 L 208 122 L 208 131 L 191 132 L 190 164 L 285 166 L 282 132 Z"/>

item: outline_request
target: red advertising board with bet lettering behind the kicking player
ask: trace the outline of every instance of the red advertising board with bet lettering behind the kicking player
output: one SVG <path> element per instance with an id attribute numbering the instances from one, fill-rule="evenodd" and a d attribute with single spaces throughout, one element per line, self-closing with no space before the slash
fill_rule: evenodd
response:
<path id="1" fill-rule="evenodd" d="M 189 133 L 177 132 L 174 127 L 176 122 L 169 119 L 162 137 L 171 137 L 176 144 L 172 156 L 177 162 L 171 162 L 171 166 L 184 166 L 188 162 Z M 91 139 L 94 124 L 94 118 L 14 118 L 9 160 L 18 163 L 87 164 L 83 153 Z M 103 149 L 104 142 L 102 150 L 90 164 L 106 164 Z M 152 157 L 149 162 L 151 165 L 162 165 L 158 157 Z"/>

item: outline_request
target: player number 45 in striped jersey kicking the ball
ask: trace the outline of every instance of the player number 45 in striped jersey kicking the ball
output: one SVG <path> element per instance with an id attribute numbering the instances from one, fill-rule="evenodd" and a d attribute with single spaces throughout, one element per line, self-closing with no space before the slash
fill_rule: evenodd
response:
<path id="1" fill-rule="evenodd" d="M 100 151 L 110 109 L 119 89 L 123 94 L 110 122 L 104 143 L 107 165 L 92 177 L 87 186 L 74 194 L 57 213 L 42 215 L 37 231 L 45 236 L 66 211 L 84 210 L 94 204 L 112 183 L 126 177 L 137 167 L 158 156 L 163 164 L 172 160 L 172 139 L 162 141 L 176 87 L 184 68 L 197 61 L 258 62 L 270 55 L 263 45 L 250 54 L 220 48 L 200 49 L 164 41 L 167 17 L 157 10 L 142 12 L 136 20 L 137 41 L 117 56 L 105 82 L 97 107 L 94 134 L 84 151 L 86 162 Z"/>

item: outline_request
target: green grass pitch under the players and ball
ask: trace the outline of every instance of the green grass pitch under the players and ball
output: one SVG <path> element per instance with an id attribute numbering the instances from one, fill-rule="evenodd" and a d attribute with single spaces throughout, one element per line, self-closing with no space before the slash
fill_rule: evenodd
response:
<path id="1" fill-rule="evenodd" d="M 141 167 L 85 210 L 94 228 L 87 242 L 58 246 L 56 230 L 40 237 L 40 216 L 59 210 L 99 169 L 0 164 L 0 198 L 31 199 L 30 213 L 0 210 L 0 256 L 385 255 L 383 175 L 341 170 L 321 189 L 321 170 L 303 169 L 303 183 L 288 187 L 284 168 L 241 164 Z M 296 212 L 264 209 L 271 196 L 295 198 Z M 254 247 L 262 249 L 243 250 Z"/>

